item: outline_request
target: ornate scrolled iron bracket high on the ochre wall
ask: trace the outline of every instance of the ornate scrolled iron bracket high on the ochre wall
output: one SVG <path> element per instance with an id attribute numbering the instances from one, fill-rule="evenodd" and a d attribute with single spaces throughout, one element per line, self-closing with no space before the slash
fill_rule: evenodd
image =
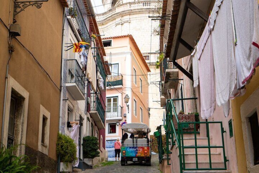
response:
<path id="1" fill-rule="evenodd" d="M 14 10 L 13 10 L 13 23 L 16 23 L 15 16 L 20 12 L 24 11 L 28 6 L 35 6 L 40 9 L 43 2 L 48 2 L 49 0 L 32 0 L 32 1 L 18 1 L 13 0 Z"/>

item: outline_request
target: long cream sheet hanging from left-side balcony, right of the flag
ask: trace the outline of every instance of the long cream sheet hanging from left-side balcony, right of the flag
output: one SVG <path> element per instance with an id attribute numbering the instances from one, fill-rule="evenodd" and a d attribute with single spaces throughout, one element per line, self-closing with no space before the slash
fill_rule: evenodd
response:
<path id="1" fill-rule="evenodd" d="M 89 52 L 88 52 L 86 75 L 87 75 L 87 78 L 90 82 L 90 85 L 93 88 L 93 91 L 97 92 L 97 90 L 96 90 L 96 83 L 97 83 L 96 63 L 95 63 L 95 60 L 93 58 L 93 53 L 91 51 L 91 48 L 89 48 Z"/>

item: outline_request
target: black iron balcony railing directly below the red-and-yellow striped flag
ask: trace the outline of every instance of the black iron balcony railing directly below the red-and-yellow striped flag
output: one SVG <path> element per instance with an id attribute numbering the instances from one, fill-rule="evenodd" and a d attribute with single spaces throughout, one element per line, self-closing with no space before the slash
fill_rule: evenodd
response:
<path id="1" fill-rule="evenodd" d="M 86 75 L 76 59 L 67 59 L 67 83 L 75 83 L 85 94 Z"/>

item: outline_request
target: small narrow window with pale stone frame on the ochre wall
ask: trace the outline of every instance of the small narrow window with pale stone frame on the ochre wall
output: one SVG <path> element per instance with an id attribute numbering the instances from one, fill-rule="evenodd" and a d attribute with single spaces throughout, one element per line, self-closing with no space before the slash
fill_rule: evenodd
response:
<path id="1" fill-rule="evenodd" d="M 49 128 L 50 128 L 50 113 L 40 105 L 40 121 L 38 135 L 38 150 L 44 154 L 49 154 Z"/>

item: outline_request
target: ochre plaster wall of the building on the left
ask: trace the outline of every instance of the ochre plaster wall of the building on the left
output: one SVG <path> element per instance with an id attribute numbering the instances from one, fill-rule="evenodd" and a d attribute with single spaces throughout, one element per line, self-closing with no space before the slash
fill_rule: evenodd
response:
<path id="1" fill-rule="evenodd" d="M 0 18 L 8 25 L 10 1 L 2 1 Z M 11 1 L 10 23 L 13 23 Z M 29 92 L 26 144 L 38 149 L 40 105 L 50 112 L 49 157 L 57 159 L 56 141 L 59 127 L 60 66 L 62 44 L 63 7 L 59 0 L 43 2 L 42 8 L 29 6 L 16 15 L 16 24 L 21 26 L 21 36 L 17 39 L 34 55 L 47 71 L 53 82 L 15 39 L 15 51 L 9 62 L 9 75 Z M 2 126 L 5 72 L 9 59 L 8 30 L 0 23 L 0 123 Z M 2 128 L 0 129 L 2 130 Z M 1 135 L 1 133 L 0 133 Z"/>

